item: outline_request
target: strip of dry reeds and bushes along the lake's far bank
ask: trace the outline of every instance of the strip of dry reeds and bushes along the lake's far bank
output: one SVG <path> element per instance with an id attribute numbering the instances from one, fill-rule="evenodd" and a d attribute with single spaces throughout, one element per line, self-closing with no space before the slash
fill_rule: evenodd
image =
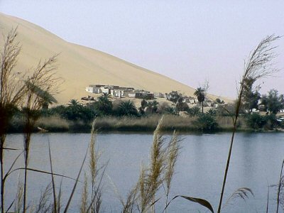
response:
<path id="1" fill-rule="evenodd" d="M 151 116 L 101 116 L 96 119 L 96 126 L 99 131 L 137 131 L 151 132 L 155 130 L 158 121 L 162 115 Z M 263 118 L 262 118 L 263 117 Z M 283 124 L 277 121 L 264 118 L 265 116 L 246 116 L 238 121 L 238 131 L 283 131 Z M 267 120 L 266 122 L 264 120 Z M 262 121 L 258 121 L 262 120 Z M 262 123 L 262 124 L 260 124 Z M 14 118 L 9 126 L 9 133 L 22 133 L 23 121 L 20 118 Z M 89 132 L 92 128 L 92 122 L 69 121 L 59 116 L 47 116 L 40 118 L 34 132 Z M 196 133 L 214 133 L 233 131 L 233 122 L 230 116 L 175 116 L 163 115 L 163 131 L 180 131 Z"/>

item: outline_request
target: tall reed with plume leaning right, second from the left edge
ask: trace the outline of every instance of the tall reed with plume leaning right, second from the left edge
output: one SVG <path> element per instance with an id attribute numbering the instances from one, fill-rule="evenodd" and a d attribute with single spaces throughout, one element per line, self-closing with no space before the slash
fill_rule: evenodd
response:
<path id="1" fill-rule="evenodd" d="M 26 194 L 27 194 L 27 175 L 28 175 L 28 157 L 30 151 L 31 134 L 35 126 L 35 121 L 39 119 L 39 109 L 43 107 L 45 102 L 53 103 L 57 102 L 52 96 L 55 93 L 58 84 L 58 77 L 55 77 L 55 65 L 58 55 L 39 62 L 38 66 L 32 72 L 31 76 L 28 76 L 25 80 L 26 92 L 25 92 L 25 105 L 24 111 L 24 185 L 23 185 L 23 212 L 26 212 Z"/>

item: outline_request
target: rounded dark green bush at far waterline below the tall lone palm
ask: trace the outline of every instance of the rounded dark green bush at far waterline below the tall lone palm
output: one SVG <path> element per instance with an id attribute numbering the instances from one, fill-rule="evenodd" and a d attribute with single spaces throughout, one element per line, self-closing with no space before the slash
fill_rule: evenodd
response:
<path id="1" fill-rule="evenodd" d="M 214 116 L 210 114 L 200 114 L 195 121 L 193 121 L 195 128 L 200 131 L 216 131 L 218 123 Z"/>

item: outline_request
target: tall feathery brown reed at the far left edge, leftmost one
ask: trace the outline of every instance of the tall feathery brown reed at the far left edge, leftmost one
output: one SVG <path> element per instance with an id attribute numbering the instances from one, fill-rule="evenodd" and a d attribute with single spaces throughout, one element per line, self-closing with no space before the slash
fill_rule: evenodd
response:
<path id="1" fill-rule="evenodd" d="M 21 47 L 16 42 L 16 29 L 12 29 L 4 38 L 0 59 L 0 164 L 1 164 L 1 212 L 4 212 L 4 150 L 9 122 L 13 116 L 13 107 L 18 106 L 23 98 L 21 74 L 13 71 Z"/>

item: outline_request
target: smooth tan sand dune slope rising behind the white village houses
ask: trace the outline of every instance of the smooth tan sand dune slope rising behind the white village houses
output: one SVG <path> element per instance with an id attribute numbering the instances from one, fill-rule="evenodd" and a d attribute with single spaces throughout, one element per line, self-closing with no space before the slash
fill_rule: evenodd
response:
<path id="1" fill-rule="evenodd" d="M 60 93 L 56 95 L 60 104 L 70 99 L 80 99 L 89 93 L 84 89 L 89 84 L 116 84 L 151 92 L 178 90 L 193 96 L 195 89 L 158 73 L 138 67 L 107 53 L 68 43 L 58 36 L 33 23 L 0 13 L 0 31 L 8 33 L 18 26 L 18 41 L 22 45 L 17 71 L 27 70 L 39 60 L 58 56 L 58 75 L 64 79 Z M 3 43 L 1 39 L 0 44 Z M 2 46 L 2 45 L 1 45 Z M 212 96 L 212 99 L 216 99 Z"/>

